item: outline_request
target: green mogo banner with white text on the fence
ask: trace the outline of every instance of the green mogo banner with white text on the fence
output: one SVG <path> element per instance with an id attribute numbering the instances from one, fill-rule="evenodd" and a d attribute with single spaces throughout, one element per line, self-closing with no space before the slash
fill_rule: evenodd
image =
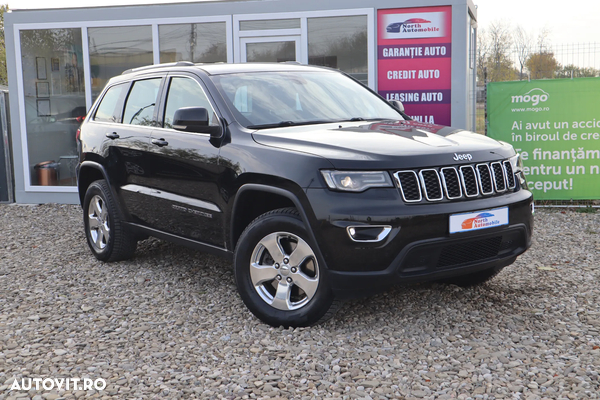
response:
<path id="1" fill-rule="evenodd" d="M 490 83 L 487 108 L 536 200 L 600 199 L 600 78 Z"/>

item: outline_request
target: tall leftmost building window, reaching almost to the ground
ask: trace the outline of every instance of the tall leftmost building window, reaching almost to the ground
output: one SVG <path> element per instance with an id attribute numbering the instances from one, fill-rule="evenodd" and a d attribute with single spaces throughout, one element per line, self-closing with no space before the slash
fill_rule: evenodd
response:
<path id="1" fill-rule="evenodd" d="M 75 133 L 86 114 L 81 29 L 22 30 L 20 38 L 30 182 L 75 186 Z"/>

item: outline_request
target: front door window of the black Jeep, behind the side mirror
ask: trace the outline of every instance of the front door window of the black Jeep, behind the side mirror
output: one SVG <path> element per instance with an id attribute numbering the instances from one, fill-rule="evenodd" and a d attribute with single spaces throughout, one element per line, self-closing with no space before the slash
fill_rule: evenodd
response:
<path id="1" fill-rule="evenodd" d="M 204 107 L 212 115 L 210 125 L 218 125 L 217 116 L 202 87 L 193 79 L 174 77 L 169 85 L 165 107 L 165 128 L 173 127 L 175 111 L 182 107 Z"/>

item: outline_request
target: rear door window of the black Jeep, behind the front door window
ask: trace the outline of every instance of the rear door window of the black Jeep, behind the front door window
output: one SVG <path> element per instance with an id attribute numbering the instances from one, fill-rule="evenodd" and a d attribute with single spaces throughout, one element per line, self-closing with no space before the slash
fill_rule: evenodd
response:
<path id="1" fill-rule="evenodd" d="M 162 78 L 145 79 L 133 83 L 127 97 L 123 123 L 152 126 L 154 107 Z"/>

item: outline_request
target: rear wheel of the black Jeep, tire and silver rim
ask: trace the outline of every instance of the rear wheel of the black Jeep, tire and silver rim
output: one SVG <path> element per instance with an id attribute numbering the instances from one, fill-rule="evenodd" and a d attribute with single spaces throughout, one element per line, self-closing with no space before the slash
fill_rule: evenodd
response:
<path id="1" fill-rule="evenodd" d="M 93 182 L 83 200 L 83 225 L 87 243 L 100 261 L 131 258 L 137 240 L 121 221 L 117 203 L 105 180 Z"/>

